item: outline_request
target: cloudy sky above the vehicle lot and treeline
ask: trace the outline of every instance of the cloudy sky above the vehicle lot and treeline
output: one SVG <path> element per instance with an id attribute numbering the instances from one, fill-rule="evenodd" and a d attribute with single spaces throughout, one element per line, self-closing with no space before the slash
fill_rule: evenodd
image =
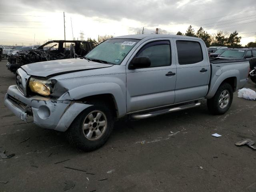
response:
<path id="1" fill-rule="evenodd" d="M 208 33 L 238 31 L 242 45 L 256 40 L 255 0 L 6 0 L 0 1 L 0 44 L 98 38 L 142 32 L 183 33 L 191 24 Z M 72 26 L 73 35 L 72 35 Z"/>

